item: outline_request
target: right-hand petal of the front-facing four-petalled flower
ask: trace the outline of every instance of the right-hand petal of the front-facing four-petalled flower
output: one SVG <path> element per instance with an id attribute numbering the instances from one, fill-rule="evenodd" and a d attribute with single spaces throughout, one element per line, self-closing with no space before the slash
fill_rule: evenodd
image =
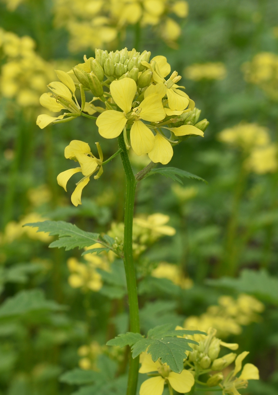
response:
<path id="1" fill-rule="evenodd" d="M 166 116 L 160 95 L 147 96 L 146 99 L 140 103 L 140 107 L 140 118 L 145 121 L 157 122 L 161 121 Z"/>

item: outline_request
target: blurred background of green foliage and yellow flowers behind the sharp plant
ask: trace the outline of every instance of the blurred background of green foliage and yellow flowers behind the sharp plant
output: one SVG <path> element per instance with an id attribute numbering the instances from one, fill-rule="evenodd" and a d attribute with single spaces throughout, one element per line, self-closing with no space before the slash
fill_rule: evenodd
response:
<path id="1" fill-rule="evenodd" d="M 80 207 L 71 205 L 70 192 L 56 182 L 68 168 L 63 150 L 72 139 L 91 147 L 99 141 L 104 158 L 116 151 L 116 141 L 100 137 L 82 117 L 44 130 L 35 119 L 54 69 L 68 71 L 84 53 L 94 56 L 95 45 L 135 45 L 167 57 L 210 122 L 202 141 L 175 147 L 170 164 L 208 184 L 182 185 L 155 175 L 138 187 L 134 255 L 142 331 L 168 322 L 213 326 L 218 336 L 239 343 L 240 351 L 249 350 L 248 361 L 259 367 L 261 380 L 251 382 L 246 393 L 276 395 L 277 2 L 188 0 L 181 13 L 169 1 L 157 15 L 147 15 L 146 4 L 138 2 L 137 16 L 120 8 L 121 2 L 114 14 L 113 2 L 99 2 L 95 19 L 106 19 L 91 23 L 84 38 L 91 20 L 87 3 L 93 4 L 0 4 L 0 391 L 72 393 L 76 385 L 58 378 L 78 364 L 115 371 L 116 361 L 125 372 L 125 352 L 104 346 L 128 329 L 121 261 L 105 253 L 81 257 L 76 249 L 49 249 L 52 237 L 22 225 L 65 220 L 121 240 L 125 181 L 119 158 L 88 184 Z M 109 40 L 92 40 L 100 31 L 96 26 Z M 131 161 L 136 171 L 148 163 L 132 152 Z M 73 186 L 69 181 L 68 190 Z M 121 393 L 120 385 L 109 388 L 99 393 Z"/>

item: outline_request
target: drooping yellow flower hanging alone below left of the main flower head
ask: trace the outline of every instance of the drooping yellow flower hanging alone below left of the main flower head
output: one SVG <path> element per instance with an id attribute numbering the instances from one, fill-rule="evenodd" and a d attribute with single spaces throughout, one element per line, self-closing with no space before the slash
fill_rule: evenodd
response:
<path id="1" fill-rule="evenodd" d="M 91 153 L 88 143 L 84 143 L 84 141 L 73 140 L 67 147 L 65 147 L 65 158 L 78 161 L 80 167 L 75 167 L 60 173 L 57 177 L 58 184 L 67 191 L 67 182 L 72 175 L 78 172 L 81 172 L 84 175 L 84 177 L 76 184 L 75 191 L 71 195 L 71 201 L 75 206 L 82 204 L 82 190 L 90 181 L 91 175 L 95 173 L 95 171 L 99 170 L 97 175 L 94 176 L 94 179 L 97 180 L 103 173 L 103 153 L 99 143 L 95 144 L 97 145 L 97 150 L 99 152 L 99 159 Z"/>

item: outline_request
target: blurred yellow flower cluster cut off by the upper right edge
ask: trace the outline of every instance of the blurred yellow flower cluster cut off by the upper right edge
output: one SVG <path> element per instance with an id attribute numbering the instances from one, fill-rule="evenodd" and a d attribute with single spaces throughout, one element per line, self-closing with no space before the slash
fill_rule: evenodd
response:
<path id="1" fill-rule="evenodd" d="M 278 100 L 278 55 L 261 52 L 242 66 L 247 82 L 259 86 L 272 99 Z"/>

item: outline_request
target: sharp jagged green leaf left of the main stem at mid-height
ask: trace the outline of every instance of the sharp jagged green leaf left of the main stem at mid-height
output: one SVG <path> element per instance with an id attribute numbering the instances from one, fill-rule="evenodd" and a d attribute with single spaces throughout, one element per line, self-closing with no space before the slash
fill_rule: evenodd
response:
<path id="1" fill-rule="evenodd" d="M 50 236 L 59 235 L 59 239 L 49 245 L 50 248 L 65 247 L 66 250 L 72 250 L 75 247 L 80 249 L 99 242 L 98 233 L 85 232 L 69 222 L 44 221 L 25 224 L 24 226 L 39 228 L 37 232 L 49 232 Z"/>

